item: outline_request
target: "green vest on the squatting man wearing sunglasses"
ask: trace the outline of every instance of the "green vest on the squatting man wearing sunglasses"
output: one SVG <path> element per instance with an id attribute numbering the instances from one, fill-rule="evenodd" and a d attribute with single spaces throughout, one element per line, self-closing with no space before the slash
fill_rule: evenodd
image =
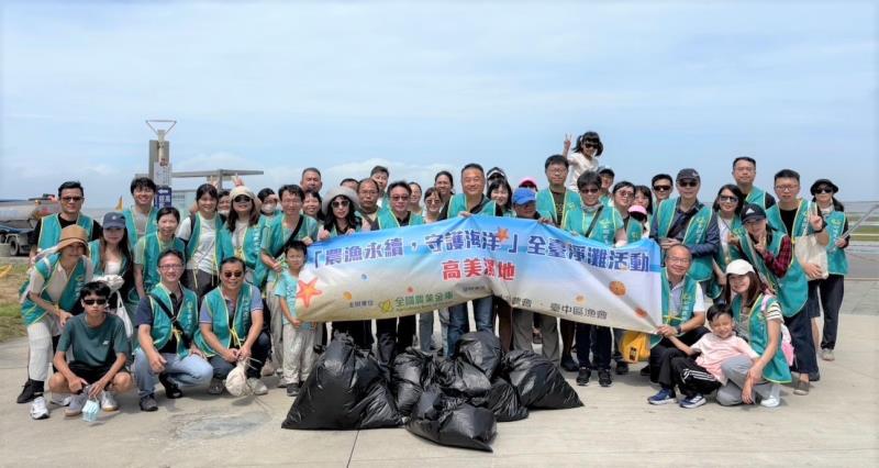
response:
<path id="1" fill-rule="evenodd" d="M 216 335 L 224 347 L 240 348 L 241 345 L 247 339 L 247 333 L 251 331 L 251 301 L 253 300 L 253 288 L 247 281 L 238 292 L 238 301 L 235 304 L 235 316 L 232 321 L 232 326 L 229 324 L 229 307 L 226 300 L 223 299 L 223 288 L 216 287 L 211 292 L 204 294 L 204 307 L 208 308 L 208 314 L 211 316 L 211 330 Z M 201 330 L 196 332 L 196 344 L 205 356 L 211 357 L 216 354 L 216 350 L 204 341 Z"/>

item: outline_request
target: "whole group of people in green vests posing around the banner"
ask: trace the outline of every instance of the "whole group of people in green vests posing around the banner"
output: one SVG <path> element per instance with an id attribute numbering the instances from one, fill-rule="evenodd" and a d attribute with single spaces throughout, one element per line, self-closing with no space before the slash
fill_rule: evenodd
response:
<path id="1" fill-rule="evenodd" d="M 754 186 L 756 160 L 738 157 L 734 181 L 700 200 L 696 169 L 656 175 L 650 186 L 616 181 L 599 164 L 604 145 L 596 132 L 571 143 L 566 137 L 561 154 L 546 158 L 545 182 L 514 185 L 503 169 L 472 163 L 460 170 L 460 193 L 449 171 L 422 190 L 414 181 L 391 182 L 382 166 L 323 191 L 312 167 L 277 192 L 255 194 L 240 180 L 230 191 L 202 185 L 181 214 L 156 208 L 156 185 L 141 177 L 131 182 L 133 205 L 102 223 L 81 212 L 81 185 L 64 182 L 59 213 L 42 218 L 31 236 L 32 269 L 22 287 L 29 375 L 18 401 L 32 403 L 33 419 L 48 417 L 48 379 L 51 402 L 66 406 L 66 415 L 79 414 L 88 400 L 114 411 L 114 393 L 133 386 L 141 410 L 156 411 L 156 383 L 168 399 L 194 386 L 221 394 L 236 367 L 254 394 L 265 394 L 263 378 L 277 375 L 296 397 L 320 346 L 342 334 L 375 346 L 382 365 L 415 344 L 450 355 L 469 331 L 468 304 L 375 323 L 310 323 L 297 315 L 298 277 L 315 242 L 471 215 L 532 220 L 609 246 L 659 244 L 663 325 L 649 335 L 641 369 L 659 387 L 649 403 L 697 408 L 716 391 L 721 404 L 775 406 L 779 386 L 794 380 L 791 371 L 794 394 L 808 394 L 820 378 L 819 354 L 834 359 L 847 272 L 838 187 L 820 179 L 809 188 L 811 200 L 801 198 L 799 174 L 782 169 L 774 178 L 776 200 Z M 824 250 L 826 263 L 794 255 L 806 242 Z M 539 343 L 544 356 L 577 372 L 580 386 L 593 371 L 599 386 L 611 386 L 612 364 L 615 374 L 628 372 L 619 349 L 623 330 L 514 309 L 497 297 L 471 302 L 476 330 L 497 330 L 505 350 Z"/>

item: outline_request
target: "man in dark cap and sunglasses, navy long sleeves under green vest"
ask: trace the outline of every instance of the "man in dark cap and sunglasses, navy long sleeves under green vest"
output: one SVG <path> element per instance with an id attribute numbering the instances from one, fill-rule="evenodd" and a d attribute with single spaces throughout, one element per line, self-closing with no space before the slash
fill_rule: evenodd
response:
<path id="1" fill-rule="evenodd" d="M 663 255 L 675 245 L 686 245 L 692 256 L 689 275 L 708 281 L 714 272 L 712 258 L 721 245 L 717 219 L 711 207 L 699 201 L 701 180 L 696 169 L 681 169 L 677 177 L 680 197 L 659 203 L 653 218 L 650 236 L 659 243 Z"/>

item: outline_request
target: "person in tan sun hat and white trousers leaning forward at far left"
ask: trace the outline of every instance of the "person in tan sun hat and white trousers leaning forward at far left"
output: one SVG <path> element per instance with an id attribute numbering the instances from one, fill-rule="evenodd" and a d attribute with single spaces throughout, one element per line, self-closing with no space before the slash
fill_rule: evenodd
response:
<path id="1" fill-rule="evenodd" d="M 57 336 L 68 320 L 79 309 L 79 290 L 91 281 L 92 266 L 88 257 L 88 233 L 78 224 L 70 224 L 59 233 L 57 252 L 34 264 L 31 277 L 22 287 L 22 322 L 27 331 L 27 382 L 18 402 L 33 400 L 31 417 L 48 417 L 43 398 L 44 382 L 48 377 L 53 348 Z M 53 402 L 63 404 L 60 394 Z"/>

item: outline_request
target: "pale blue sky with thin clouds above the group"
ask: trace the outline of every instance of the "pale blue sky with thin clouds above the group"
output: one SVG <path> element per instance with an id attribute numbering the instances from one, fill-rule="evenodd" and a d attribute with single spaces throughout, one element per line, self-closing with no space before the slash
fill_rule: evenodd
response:
<path id="1" fill-rule="evenodd" d="M 263 169 L 254 190 L 388 165 L 430 183 L 479 161 L 537 176 L 598 131 L 617 180 L 737 155 L 843 200 L 879 199 L 874 2 L 5 2 L 0 198 L 145 171 L 145 119 L 176 119 L 176 170 Z M 194 187 L 180 180 L 178 188 Z"/>

